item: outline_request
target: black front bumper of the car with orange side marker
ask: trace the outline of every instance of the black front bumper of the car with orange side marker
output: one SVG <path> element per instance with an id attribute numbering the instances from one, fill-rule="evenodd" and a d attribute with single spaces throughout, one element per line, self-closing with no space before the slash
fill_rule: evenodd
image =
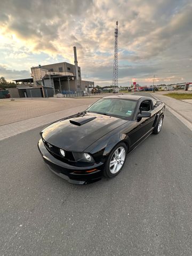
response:
<path id="1" fill-rule="evenodd" d="M 103 163 L 95 163 L 92 166 L 86 167 L 77 167 L 66 164 L 49 153 L 44 146 L 42 139 L 38 142 L 38 149 L 49 169 L 69 183 L 84 185 L 102 178 Z"/>

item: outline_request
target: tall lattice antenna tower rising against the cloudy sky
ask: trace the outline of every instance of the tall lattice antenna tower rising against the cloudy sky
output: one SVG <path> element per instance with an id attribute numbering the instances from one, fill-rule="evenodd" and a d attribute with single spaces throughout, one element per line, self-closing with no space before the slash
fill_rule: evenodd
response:
<path id="1" fill-rule="evenodd" d="M 115 28 L 115 46 L 114 46 L 114 69 L 113 69 L 113 87 L 118 87 L 118 21 Z"/>

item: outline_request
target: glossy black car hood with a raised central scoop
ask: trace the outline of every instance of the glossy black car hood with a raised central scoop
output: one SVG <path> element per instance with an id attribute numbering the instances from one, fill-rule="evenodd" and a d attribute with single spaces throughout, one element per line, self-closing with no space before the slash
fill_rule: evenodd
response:
<path id="1" fill-rule="evenodd" d="M 93 142 L 128 121 L 95 113 L 84 113 L 57 121 L 42 131 L 50 144 L 69 151 L 84 151 Z"/>

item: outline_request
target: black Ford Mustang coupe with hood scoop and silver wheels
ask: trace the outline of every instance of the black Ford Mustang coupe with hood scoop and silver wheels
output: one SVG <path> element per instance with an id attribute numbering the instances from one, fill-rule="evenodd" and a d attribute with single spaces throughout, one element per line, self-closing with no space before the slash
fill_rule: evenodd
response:
<path id="1" fill-rule="evenodd" d="M 127 153 L 161 131 L 165 105 L 149 97 L 117 95 L 60 119 L 40 134 L 38 148 L 52 172 L 83 185 L 115 177 Z"/>

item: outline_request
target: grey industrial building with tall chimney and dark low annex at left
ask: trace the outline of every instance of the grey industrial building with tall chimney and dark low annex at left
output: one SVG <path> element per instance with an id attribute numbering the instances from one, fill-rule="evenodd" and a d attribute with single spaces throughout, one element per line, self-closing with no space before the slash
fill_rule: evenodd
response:
<path id="1" fill-rule="evenodd" d="M 17 79 L 20 97 L 51 97 L 53 94 L 89 93 L 94 82 L 81 79 L 81 67 L 78 67 L 76 47 L 74 46 L 74 64 L 60 62 L 31 67 L 31 77 Z"/>

